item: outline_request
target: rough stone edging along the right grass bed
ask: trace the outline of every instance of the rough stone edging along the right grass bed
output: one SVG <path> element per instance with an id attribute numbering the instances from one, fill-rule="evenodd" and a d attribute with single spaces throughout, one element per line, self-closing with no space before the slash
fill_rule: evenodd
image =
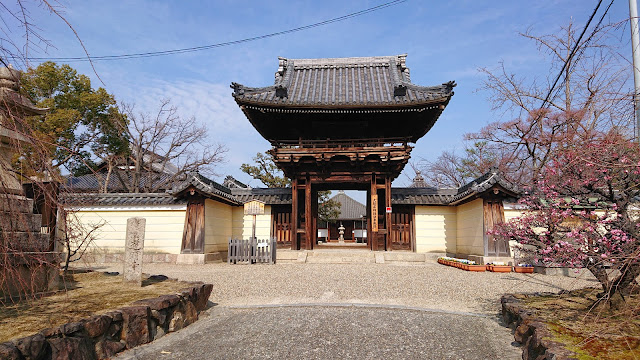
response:
<path id="1" fill-rule="evenodd" d="M 562 344 L 551 340 L 553 334 L 547 325 L 535 317 L 535 313 L 524 307 L 513 295 L 503 295 L 502 318 L 514 330 L 513 337 L 522 344 L 523 360 L 577 359 L 577 354 Z"/>

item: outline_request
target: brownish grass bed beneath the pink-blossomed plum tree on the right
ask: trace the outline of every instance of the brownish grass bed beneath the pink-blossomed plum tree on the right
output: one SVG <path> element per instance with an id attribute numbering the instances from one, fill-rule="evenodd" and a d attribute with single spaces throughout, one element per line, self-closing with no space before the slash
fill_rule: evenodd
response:
<path id="1" fill-rule="evenodd" d="M 626 296 L 619 310 L 592 308 L 599 292 L 587 288 L 523 300 L 549 326 L 553 340 L 579 359 L 640 359 L 640 295 Z"/>

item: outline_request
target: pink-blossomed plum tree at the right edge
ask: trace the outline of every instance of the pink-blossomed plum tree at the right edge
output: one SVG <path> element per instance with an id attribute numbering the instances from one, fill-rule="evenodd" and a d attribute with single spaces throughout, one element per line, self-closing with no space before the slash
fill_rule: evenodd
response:
<path id="1" fill-rule="evenodd" d="M 520 202 L 528 211 L 491 235 L 518 241 L 538 263 L 588 269 L 598 302 L 618 307 L 640 275 L 638 144 L 592 132 L 557 151 Z"/>

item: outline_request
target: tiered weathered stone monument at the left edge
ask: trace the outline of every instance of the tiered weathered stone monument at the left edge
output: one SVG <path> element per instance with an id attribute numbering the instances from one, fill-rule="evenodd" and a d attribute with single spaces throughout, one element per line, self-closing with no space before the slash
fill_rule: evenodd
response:
<path id="1" fill-rule="evenodd" d="M 0 296 L 23 296 L 57 284 L 59 253 L 47 252 L 49 235 L 40 233 L 41 215 L 33 213 L 33 200 L 24 196 L 11 167 L 20 144 L 29 142 L 20 119 L 42 115 L 20 94 L 21 72 L 0 68 Z"/>

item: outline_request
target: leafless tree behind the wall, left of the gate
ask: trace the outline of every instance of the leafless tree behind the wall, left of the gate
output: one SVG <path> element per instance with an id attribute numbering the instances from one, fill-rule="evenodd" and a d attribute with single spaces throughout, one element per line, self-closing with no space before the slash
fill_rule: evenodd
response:
<path id="1" fill-rule="evenodd" d="M 137 113 L 131 105 L 123 105 L 121 112 L 128 119 L 122 131 L 130 151 L 99 155 L 104 168 L 97 176 L 103 192 L 111 191 L 112 182 L 127 192 L 161 191 L 189 173 L 213 173 L 224 161 L 227 149 L 210 141 L 207 128 L 194 117 L 182 117 L 169 100 L 163 100 L 153 116 Z"/>

